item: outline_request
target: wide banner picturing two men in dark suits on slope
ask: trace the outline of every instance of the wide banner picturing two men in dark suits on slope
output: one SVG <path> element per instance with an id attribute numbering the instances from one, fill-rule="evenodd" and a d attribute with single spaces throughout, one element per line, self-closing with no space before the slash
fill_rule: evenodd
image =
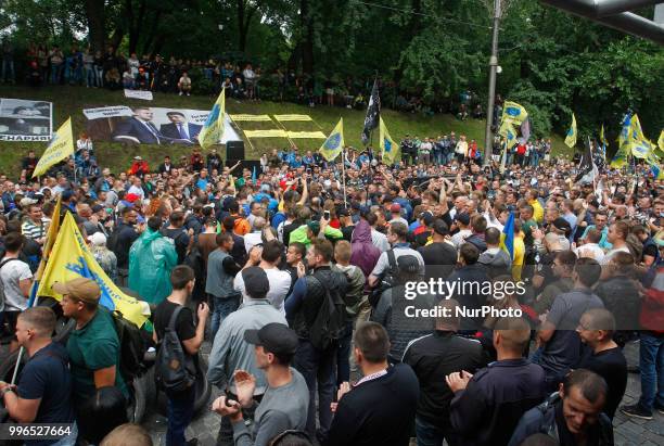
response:
<path id="1" fill-rule="evenodd" d="M 132 144 L 199 144 L 199 133 L 209 111 L 151 106 L 104 106 L 86 109 L 87 133 L 93 141 Z M 232 120 L 226 115 L 220 144 L 241 141 Z"/>

